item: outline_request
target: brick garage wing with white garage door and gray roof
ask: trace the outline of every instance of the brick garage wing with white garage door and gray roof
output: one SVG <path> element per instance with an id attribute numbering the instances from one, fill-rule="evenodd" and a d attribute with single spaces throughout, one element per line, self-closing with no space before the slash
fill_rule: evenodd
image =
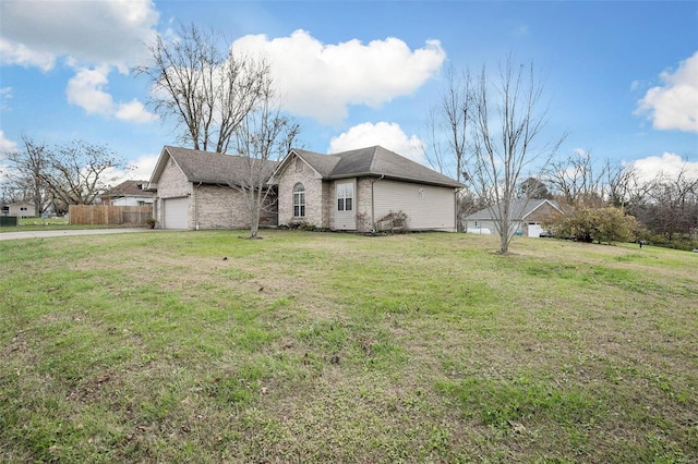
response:
<path id="1" fill-rule="evenodd" d="M 248 169 L 248 158 L 163 148 L 147 190 L 155 192 L 154 216 L 160 229 L 240 229 L 250 220 L 242 194 L 232 188 L 236 176 Z M 265 175 L 278 163 L 264 161 Z M 276 225 L 274 202 L 260 225 Z"/>

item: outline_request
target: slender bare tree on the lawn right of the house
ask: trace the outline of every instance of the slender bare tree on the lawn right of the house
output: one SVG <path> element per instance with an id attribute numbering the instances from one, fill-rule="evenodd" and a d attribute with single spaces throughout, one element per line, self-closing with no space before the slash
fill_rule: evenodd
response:
<path id="1" fill-rule="evenodd" d="M 517 230 L 515 211 L 517 185 L 522 175 L 540 180 L 532 173 L 534 162 L 544 167 L 555 155 L 564 136 L 542 143 L 546 110 L 540 108 L 543 86 L 533 65 L 516 64 L 509 57 L 500 66 L 498 81 L 490 87 L 485 69 L 472 86 L 471 185 L 485 198 L 500 235 L 500 252 L 507 253 Z M 496 97 L 490 97 L 493 91 Z M 494 114 L 493 114 L 494 113 Z M 495 122 L 496 121 L 496 122 Z"/>

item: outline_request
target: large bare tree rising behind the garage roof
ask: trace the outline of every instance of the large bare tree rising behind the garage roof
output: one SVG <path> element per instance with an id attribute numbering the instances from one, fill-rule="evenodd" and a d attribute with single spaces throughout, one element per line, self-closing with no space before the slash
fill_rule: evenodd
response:
<path id="1" fill-rule="evenodd" d="M 218 50 L 219 37 L 194 25 L 178 36 L 158 35 L 147 64 L 136 68 L 151 83 L 155 111 L 183 126 L 181 139 L 197 150 L 225 152 L 238 125 L 255 107 L 269 73 L 265 60 Z"/>

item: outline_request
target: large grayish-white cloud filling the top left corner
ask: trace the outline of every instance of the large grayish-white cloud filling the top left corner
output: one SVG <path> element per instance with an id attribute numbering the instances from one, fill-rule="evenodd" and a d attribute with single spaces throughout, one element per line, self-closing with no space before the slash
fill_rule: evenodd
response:
<path id="1" fill-rule="evenodd" d="M 158 12 L 152 0 L 3 1 L 2 61 L 50 70 L 57 57 L 124 69 L 145 52 Z"/>

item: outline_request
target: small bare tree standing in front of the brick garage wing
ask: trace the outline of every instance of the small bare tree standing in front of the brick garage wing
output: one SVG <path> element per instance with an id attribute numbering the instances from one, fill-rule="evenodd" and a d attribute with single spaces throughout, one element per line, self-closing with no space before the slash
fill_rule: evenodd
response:
<path id="1" fill-rule="evenodd" d="M 242 158 L 230 186 L 241 193 L 250 219 L 250 237 L 255 239 L 260 219 L 274 206 L 274 186 L 268 180 L 276 160 L 285 156 L 300 133 L 300 126 L 281 113 L 272 80 L 262 83 L 257 106 L 232 133 L 234 151 Z"/>

